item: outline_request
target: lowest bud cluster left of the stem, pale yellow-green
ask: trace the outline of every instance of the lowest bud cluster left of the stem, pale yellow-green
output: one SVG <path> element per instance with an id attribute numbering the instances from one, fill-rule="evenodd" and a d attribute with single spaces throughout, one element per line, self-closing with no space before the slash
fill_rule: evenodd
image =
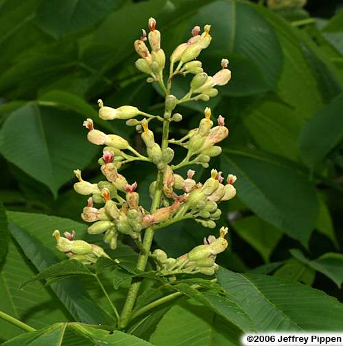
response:
<path id="1" fill-rule="evenodd" d="M 64 232 L 64 237 L 60 236 L 60 231 L 56 230 L 52 234 L 56 238 L 56 247 L 64 252 L 71 260 L 78 260 L 83 264 L 94 264 L 99 257 L 110 258 L 108 254 L 95 244 L 89 244 L 84 240 L 73 240 L 75 232 Z"/>

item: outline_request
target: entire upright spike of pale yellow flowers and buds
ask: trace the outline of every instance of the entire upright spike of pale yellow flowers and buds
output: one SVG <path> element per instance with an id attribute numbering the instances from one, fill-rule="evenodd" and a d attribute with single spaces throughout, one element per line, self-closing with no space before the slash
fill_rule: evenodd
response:
<path id="1" fill-rule="evenodd" d="M 170 69 L 167 82 L 164 79 L 165 52 L 161 48 L 161 33 L 156 29 L 156 21 L 150 18 L 149 34 L 143 30 L 141 38 L 134 42 L 134 49 L 141 56 L 136 62 L 139 71 L 149 75 L 147 82 L 156 82 L 165 92 L 165 111 L 163 115 L 149 114 L 134 106 L 111 108 L 104 106 L 99 99 L 99 118 L 108 120 L 123 119 L 129 126 L 135 126 L 145 144 L 145 153 L 134 149 L 125 138 L 117 134 L 106 134 L 95 129 L 92 119 L 84 121 L 88 129 L 87 138 L 94 145 L 102 145 L 103 154 L 98 162 L 106 180 L 91 183 L 82 178 L 80 170 L 75 170 L 78 182 L 74 189 L 80 195 L 88 196 L 87 204 L 82 210 L 81 218 L 87 223 L 88 234 L 102 234 L 103 240 L 110 249 L 117 248 L 117 240 L 121 234 L 130 236 L 139 249 L 141 256 L 148 256 L 150 246 L 144 247 L 142 234 L 144 230 L 154 232 L 161 227 L 171 225 L 184 219 L 193 219 L 204 227 L 214 228 L 215 221 L 220 219 L 221 210 L 218 203 L 235 197 L 233 183 L 235 175 L 228 174 L 226 181 L 221 171 L 212 169 L 211 177 L 202 184 L 193 179 L 195 171 L 189 169 L 187 177 L 182 177 L 176 171 L 183 166 L 200 164 L 209 166 L 209 161 L 219 155 L 222 149 L 217 144 L 228 136 L 223 116 L 218 116 L 217 125 L 213 124 L 210 108 L 205 108 L 204 117 L 198 127 L 191 129 L 180 139 L 168 138 L 168 128 L 172 121 L 181 121 L 182 115 L 174 109 L 180 103 L 187 101 L 209 101 L 217 95 L 216 86 L 224 86 L 230 81 L 228 60 L 222 59 L 222 69 L 213 76 L 207 75 L 202 69 L 202 63 L 195 60 L 203 49 L 211 43 L 209 34 L 211 25 L 204 26 L 204 32 L 196 26 L 191 31 L 191 38 L 178 45 L 170 56 Z M 145 42 L 149 42 L 150 49 Z M 174 64 L 177 64 L 174 69 Z M 176 75 L 193 75 L 187 94 L 177 99 L 171 94 L 171 82 Z M 166 83 L 165 83 L 166 82 Z M 163 123 L 163 139 L 161 144 L 155 140 L 155 134 L 150 129 L 150 121 Z M 174 150 L 169 145 L 178 145 L 187 151 L 185 158 L 174 164 Z M 128 162 L 150 162 L 158 172 L 156 180 L 150 184 L 151 210 L 146 210 L 140 204 L 137 182 L 130 184 L 126 177 L 119 173 L 123 164 Z M 147 231 L 146 231 L 147 232 Z M 228 246 L 224 236 L 227 229 L 222 227 L 220 237 L 209 236 L 204 245 L 195 247 L 180 258 L 167 258 L 161 249 L 156 249 L 151 255 L 156 262 L 159 275 L 175 275 L 176 273 L 202 273 L 213 275 L 217 264 L 215 258 Z M 108 257 L 105 251 L 94 244 L 83 240 L 73 240 L 74 233 L 55 231 L 57 248 L 69 258 L 92 264 L 100 256 Z M 141 269 L 141 268 L 139 268 Z M 142 269 L 141 269 L 142 270 Z"/>

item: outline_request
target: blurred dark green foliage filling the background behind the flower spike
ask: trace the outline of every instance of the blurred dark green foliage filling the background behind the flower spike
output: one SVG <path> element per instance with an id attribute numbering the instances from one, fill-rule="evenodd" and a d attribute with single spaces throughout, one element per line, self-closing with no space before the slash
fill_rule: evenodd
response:
<path id="1" fill-rule="evenodd" d="M 226 203 L 218 222 L 230 229 L 230 250 L 220 264 L 303 282 L 343 300 L 342 2 L 309 0 L 304 8 L 303 1 L 288 1 L 284 8 L 279 2 L 0 0 L 5 209 L 80 221 L 86 198 L 73 191 L 73 169 L 84 170 L 89 181 L 101 176 L 100 148 L 87 142 L 82 121 L 92 118 L 97 128 L 142 148 L 134 128 L 98 118 L 97 99 L 163 111 L 158 88 L 134 67 L 133 42 L 147 18 L 157 19 L 167 54 L 193 25 L 211 23 L 211 47 L 201 57 L 204 71 L 217 71 L 221 58 L 228 58 L 233 73 L 210 102 L 214 116 L 225 116 L 230 129 L 212 166 L 238 177 L 237 197 Z M 182 78 L 174 84 L 176 96 L 187 91 L 189 81 Z M 180 107 L 184 120 L 171 127 L 171 136 L 198 124 L 203 109 L 202 102 Z M 209 175 L 195 169 L 198 180 Z M 155 172 L 134 163 L 123 174 L 129 182 L 137 180 L 147 207 Z M 209 232 L 192 221 L 177 223 L 156 232 L 155 246 L 179 256 Z M 10 243 L 8 256 L 8 266 L 32 270 L 27 262 L 19 264 L 23 256 L 16 243 Z"/>

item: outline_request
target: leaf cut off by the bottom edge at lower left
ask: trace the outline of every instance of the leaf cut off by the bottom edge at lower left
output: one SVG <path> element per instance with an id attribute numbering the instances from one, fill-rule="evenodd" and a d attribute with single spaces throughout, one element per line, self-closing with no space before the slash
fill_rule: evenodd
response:
<path id="1" fill-rule="evenodd" d="M 25 343 L 23 343 L 25 341 Z M 152 346 L 137 336 L 115 330 L 108 332 L 80 323 L 56 323 L 43 330 L 30 332 L 4 343 L 5 346 Z"/>

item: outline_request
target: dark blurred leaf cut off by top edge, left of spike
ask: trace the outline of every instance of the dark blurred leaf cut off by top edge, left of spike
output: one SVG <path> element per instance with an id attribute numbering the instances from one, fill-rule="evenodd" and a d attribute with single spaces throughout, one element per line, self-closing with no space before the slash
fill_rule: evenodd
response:
<path id="1" fill-rule="evenodd" d="M 45 0 L 36 13 L 38 26 L 54 38 L 80 32 L 99 23 L 108 13 L 117 9 L 121 0 Z"/>

